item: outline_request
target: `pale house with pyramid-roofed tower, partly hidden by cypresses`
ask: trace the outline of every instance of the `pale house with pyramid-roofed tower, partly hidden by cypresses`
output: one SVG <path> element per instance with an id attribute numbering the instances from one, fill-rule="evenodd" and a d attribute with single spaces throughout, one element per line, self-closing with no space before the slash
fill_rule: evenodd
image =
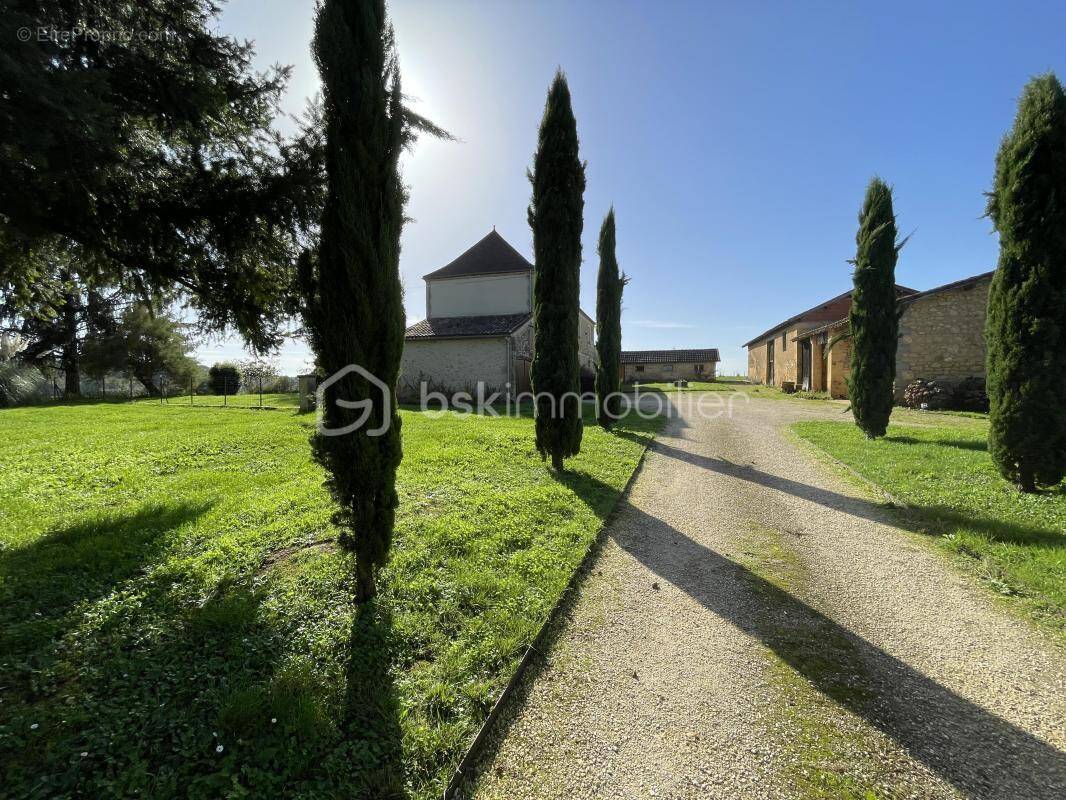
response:
<path id="1" fill-rule="evenodd" d="M 399 394 L 431 390 L 475 395 L 529 390 L 533 330 L 533 265 L 494 228 L 454 261 L 425 278 L 426 318 L 404 334 Z M 581 367 L 596 366 L 596 324 L 580 311 Z"/>

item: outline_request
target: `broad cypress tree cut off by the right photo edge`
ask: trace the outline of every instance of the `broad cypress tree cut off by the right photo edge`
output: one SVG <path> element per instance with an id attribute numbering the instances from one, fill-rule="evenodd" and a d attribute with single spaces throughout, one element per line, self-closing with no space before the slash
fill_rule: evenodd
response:
<path id="1" fill-rule="evenodd" d="M 1034 78 L 996 157 L 988 215 L 1000 256 L 988 292 L 989 451 L 1024 492 L 1066 475 L 1066 96 Z"/>

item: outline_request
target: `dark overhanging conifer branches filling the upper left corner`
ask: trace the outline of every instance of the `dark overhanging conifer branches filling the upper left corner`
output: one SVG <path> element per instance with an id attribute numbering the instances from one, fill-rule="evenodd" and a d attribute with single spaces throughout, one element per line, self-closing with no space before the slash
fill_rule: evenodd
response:
<path id="1" fill-rule="evenodd" d="M 320 141 L 312 126 L 278 135 L 288 69 L 256 70 L 220 13 L 215 0 L 0 0 L 5 298 L 32 308 L 49 253 L 74 249 L 85 282 L 177 288 L 206 326 L 279 343 L 321 212 Z"/>

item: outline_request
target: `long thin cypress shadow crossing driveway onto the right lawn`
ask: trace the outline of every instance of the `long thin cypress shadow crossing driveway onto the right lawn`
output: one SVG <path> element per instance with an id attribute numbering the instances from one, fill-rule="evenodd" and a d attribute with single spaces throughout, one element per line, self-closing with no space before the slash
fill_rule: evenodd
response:
<path id="1" fill-rule="evenodd" d="M 902 526 L 917 533 L 940 534 L 951 527 L 969 527 L 988 537 L 994 542 L 1038 545 L 1041 547 L 1066 547 L 1066 537 L 1053 528 L 1044 528 L 1020 523 L 1006 522 L 975 513 L 963 513 L 946 506 L 908 506 L 906 509 L 886 508 L 858 497 L 833 492 L 790 478 L 771 475 L 757 469 L 752 464 L 739 464 L 727 459 L 681 450 L 661 439 L 651 444 L 651 450 L 668 458 L 678 459 L 702 469 L 737 478 L 760 486 L 784 492 L 808 502 L 815 502 L 829 509 L 842 511 L 862 519 L 884 525 Z M 932 529 L 932 530 L 931 530 Z"/>

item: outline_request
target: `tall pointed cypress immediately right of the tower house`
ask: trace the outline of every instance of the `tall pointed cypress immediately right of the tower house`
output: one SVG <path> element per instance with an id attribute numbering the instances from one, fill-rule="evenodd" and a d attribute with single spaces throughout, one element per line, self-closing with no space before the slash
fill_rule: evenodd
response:
<path id="1" fill-rule="evenodd" d="M 554 469 L 581 450 L 578 291 L 585 167 L 578 125 L 562 70 L 548 90 L 537 151 L 530 172 L 533 198 L 533 324 L 531 380 L 536 397 L 536 447 Z"/>

